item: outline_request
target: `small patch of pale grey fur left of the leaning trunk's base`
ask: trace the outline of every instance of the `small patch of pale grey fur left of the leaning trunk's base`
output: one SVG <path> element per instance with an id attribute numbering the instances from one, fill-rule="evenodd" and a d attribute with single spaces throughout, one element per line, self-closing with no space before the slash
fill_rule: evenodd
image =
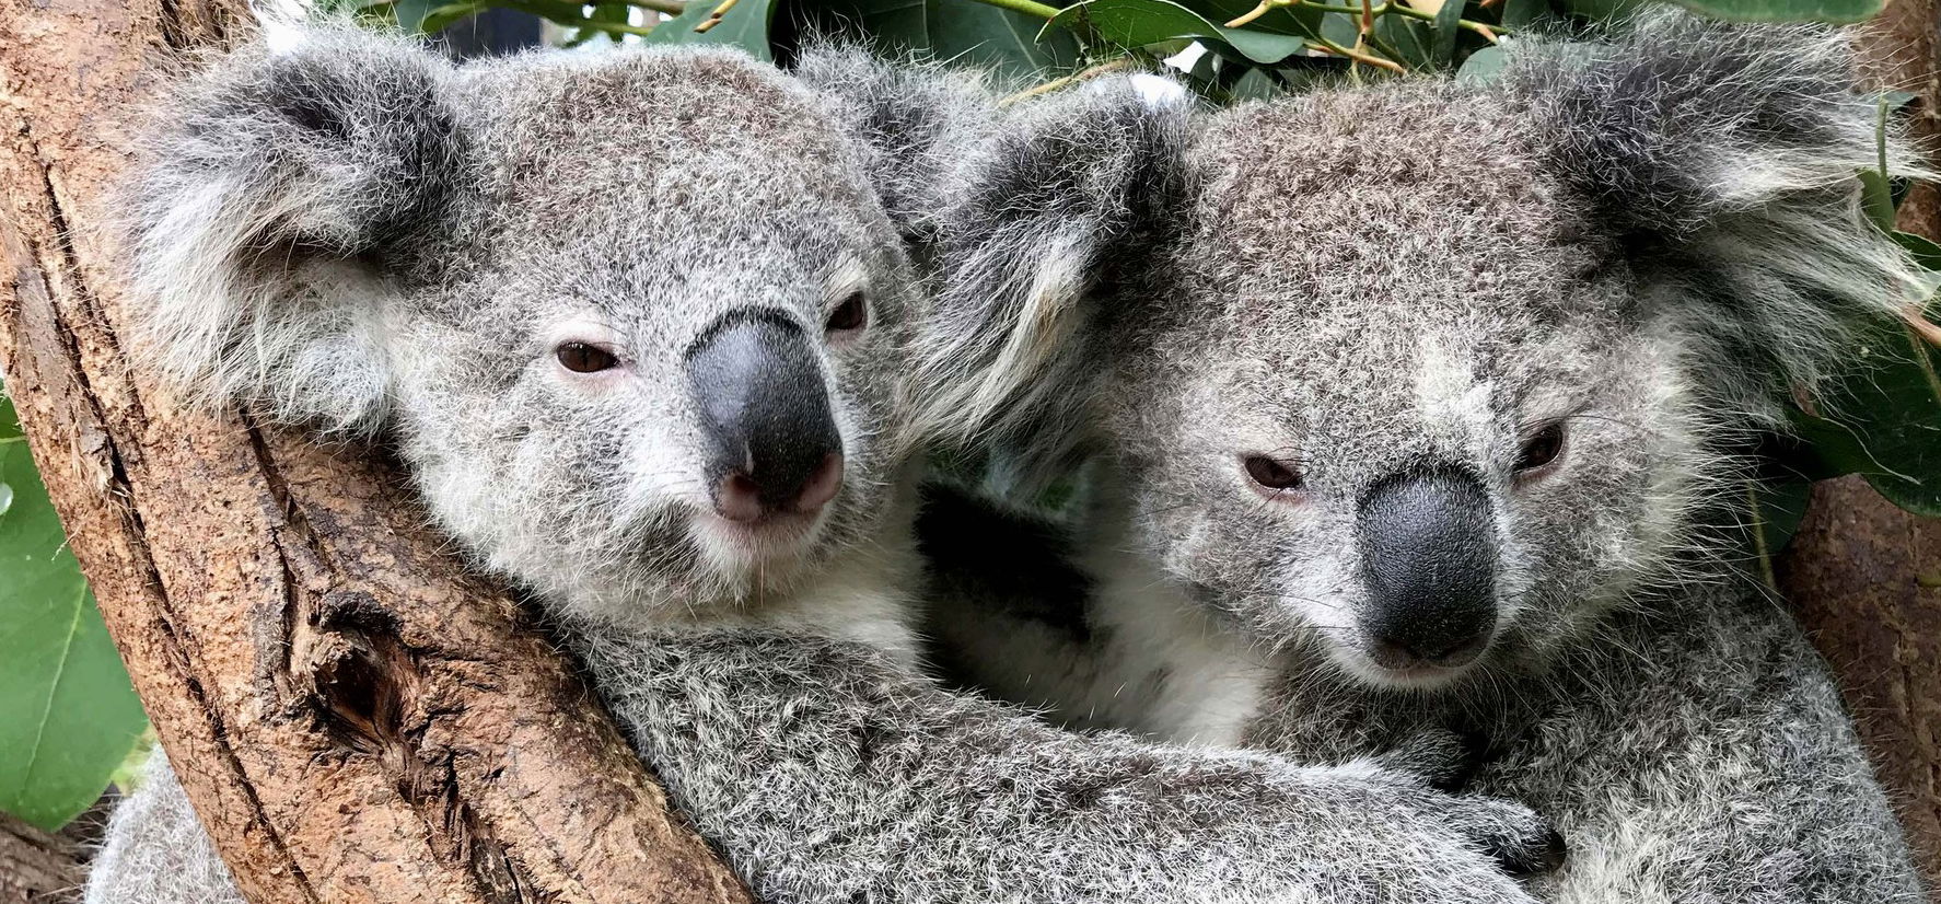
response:
<path id="1" fill-rule="evenodd" d="M 136 791 L 115 807 L 82 902 L 245 904 L 161 749 Z"/>

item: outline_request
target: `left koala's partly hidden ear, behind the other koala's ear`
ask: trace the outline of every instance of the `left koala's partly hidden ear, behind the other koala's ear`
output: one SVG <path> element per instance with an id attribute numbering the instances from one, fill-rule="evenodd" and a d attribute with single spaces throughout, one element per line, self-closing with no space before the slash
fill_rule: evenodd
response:
<path id="1" fill-rule="evenodd" d="M 827 41 L 809 43 L 790 74 L 823 95 L 852 130 L 883 210 L 905 242 L 928 258 L 949 175 L 992 124 L 996 103 L 982 76 L 891 62 Z"/>

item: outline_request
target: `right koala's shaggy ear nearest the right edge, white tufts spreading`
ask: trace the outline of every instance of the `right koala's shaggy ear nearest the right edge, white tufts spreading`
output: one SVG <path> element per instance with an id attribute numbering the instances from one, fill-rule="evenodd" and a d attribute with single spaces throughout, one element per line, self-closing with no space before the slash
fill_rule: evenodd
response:
<path id="1" fill-rule="evenodd" d="M 1617 231 L 1640 277 L 1689 303 L 1708 353 L 1731 361 L 1729 405 L 1770 413 L 1854 326 L 1931 289 L 1861 210 L 1879 101 L 1856 87 L 1840 29 L 1656 12 L 1611 43 L 1526 47 L 1504 83 L 1594 227 Z M 1898 132 L 1885 153 L 1922 175 Z"/>

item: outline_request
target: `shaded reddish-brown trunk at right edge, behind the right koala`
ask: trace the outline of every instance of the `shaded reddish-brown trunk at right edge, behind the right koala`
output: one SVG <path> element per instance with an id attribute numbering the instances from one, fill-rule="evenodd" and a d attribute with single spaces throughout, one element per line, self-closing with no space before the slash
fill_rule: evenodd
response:
<path id="1" fill-rule="evenodd" d="M 1941 2 L 1892 0 L 1863 47 L 1879 85 L 1918 95 L 1914 132 L 1941 149 Z M 1941 190 L 1916 184 L 1898 225 L 1941 239 Z M 1840 673 L 1941 902 L 1941 520 L 1859 477 L 1821 483 L 1780 586 Z"/>

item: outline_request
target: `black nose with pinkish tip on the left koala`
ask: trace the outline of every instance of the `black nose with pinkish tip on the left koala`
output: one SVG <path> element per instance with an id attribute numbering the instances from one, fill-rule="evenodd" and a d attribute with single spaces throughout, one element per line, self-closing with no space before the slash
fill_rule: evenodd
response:
<path id="1" fill-rule="evenodd" d="M 743 308 L 687 349 L 708 438 L 714 510 L 753 522 L 813 512 L 842 487 L 842 435 L 809 338 L 780 312 Z"/>

